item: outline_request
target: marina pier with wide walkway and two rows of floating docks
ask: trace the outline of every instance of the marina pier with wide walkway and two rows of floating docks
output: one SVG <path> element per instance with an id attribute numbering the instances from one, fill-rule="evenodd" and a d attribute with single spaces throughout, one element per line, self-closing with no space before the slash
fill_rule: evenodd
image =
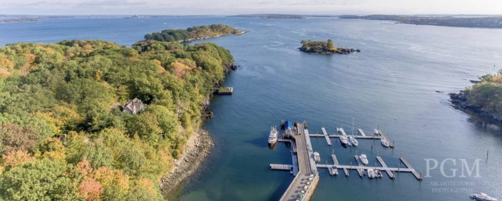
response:
<path id="1" fill-rule="evenodd" d="M 284 123 L 284 121 L 283 121 Z M 364 166 L 359 156 L 354 155 L 356 161 L 355 164 L 350 165 L 340 165 L 335 154 L 331 154 L 332 164 L 316 164 L 314 161 L 314 152 L 312 148 L 312 143 L 310 142 L 310 137 L 323 137 L 329 146 L 332 145 L 330 138 L 340 138 L 341 136 L 347 136 L 343 128 L 337 128 L 337 134 L 328 134 L 326 129 L 321 127 L 322 134 L 309 134 L 308 129 L 306 129 L 306 122 L 304 124 L 286 121 L 286 124 L 281 124 L 281 126 L 287 125 L 286 130 L 283 129 L 283 133 L 280 135 L 280 142 L 286 142 L 291 144 L 291 164 L 270 164 L 272 170 L 284 170 L 290 171 L 295 177 L 291 181 L 290 185 L 286 191 L 281 196 L 280 200 L 310 200 L 310 197 L 314 193 L 315 188 L 319 182 L 319 172 L 317 168 L 326 168 L 329 175 L 338 175 L 338 169 L 342 169 L 345 176 L 350 176 L 350 170 L 356 170 L 360 177 L 365 175 L 365 171 L 368 169 L 376 169 L 380 171 L 385 171 L 389 178 L 395 178 L 395 172 L 410 172 L 418 180 L 422 180 L 421 174 L 411 166 L 411 164 L 406 161 L 403 157 L 400 157 L 401 163 L 406 167 L 388 167 L 384 162 L 384 159 L 380 156 L 376 156 L 376 160 L 382 165 L 379 166 Z M 304 127 L 305 126 L 305 127 Z M 292 128 L 294 127 L 294 128 Z M 389 142 L 390 147 L 394 147 L 394 143 L 389 140 L 389 138 L 381 131 L 377 130 L 380 135 L 366 135 L 362 129 L 357 129 L 359 135 L 355 135 L 358 139 L 386 139 Z"/>

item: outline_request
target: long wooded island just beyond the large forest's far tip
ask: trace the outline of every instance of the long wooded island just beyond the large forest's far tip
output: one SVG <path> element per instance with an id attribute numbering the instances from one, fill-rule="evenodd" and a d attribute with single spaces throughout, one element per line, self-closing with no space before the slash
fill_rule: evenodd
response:
<path id="1" fill-rule="evenodd" d="M 165 42 L 187 42 L 193 40 L 203 40 L 226 35 L 240 35 L 244 31 L 236 30 L 226 25 L 204 25 L 187 29 L 168 29 L 162 32 L 154 32 L 145 35 L 145 40 L 165 41 Z"/>

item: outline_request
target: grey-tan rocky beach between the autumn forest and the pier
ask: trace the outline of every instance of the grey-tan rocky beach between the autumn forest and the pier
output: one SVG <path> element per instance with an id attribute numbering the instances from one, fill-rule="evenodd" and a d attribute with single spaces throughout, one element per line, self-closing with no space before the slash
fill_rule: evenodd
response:
<path id="1" fill-rule="evenodd" d="M 160 180 L 160 190 L 164 197 L 168 197 L 173 190 L 179 188 L 182 181 L 195 173 L 209 155 L 213 145 L 213 140 L 206 130 L 200 129 L 194 132 L 188 139 L 181 157 L 174 160 L 174 167 L 169 172 L 169 176 Z"/>

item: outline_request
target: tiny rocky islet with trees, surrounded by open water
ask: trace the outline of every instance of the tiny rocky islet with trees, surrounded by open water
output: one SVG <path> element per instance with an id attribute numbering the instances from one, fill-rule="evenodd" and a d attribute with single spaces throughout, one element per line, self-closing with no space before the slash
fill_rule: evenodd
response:
<path id="1" fill-rule="evenodd" d="M 327 41 L 303 40 L 300 43 L 302 47 L 298 49 L 309 54 L 349 54 L 352 52 L 360 52 L 360 50 L 352 48 L 335 47 L 331 39 Z"/>

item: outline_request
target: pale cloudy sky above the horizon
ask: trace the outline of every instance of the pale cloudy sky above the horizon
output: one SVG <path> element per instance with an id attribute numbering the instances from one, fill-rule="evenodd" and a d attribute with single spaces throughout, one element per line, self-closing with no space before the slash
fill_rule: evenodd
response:
<path id="1" fill-rule="evenodd" d="M 502 15 L 502 0 L 0 0 L 0 14 L 480 14 Z"/>

